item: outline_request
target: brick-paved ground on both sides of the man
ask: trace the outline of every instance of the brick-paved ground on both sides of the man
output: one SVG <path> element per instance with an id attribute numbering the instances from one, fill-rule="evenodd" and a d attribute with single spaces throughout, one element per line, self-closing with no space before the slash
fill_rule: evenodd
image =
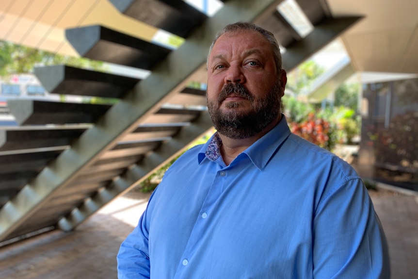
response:
<path id="1" fill-rule="evenodd" d="M 418 278 L 418 198 L 370 192 L 389 243 L 392 279 Z M 52 231 L 0 248 L 1 279 L 115 279 L 120 243 L 149 195 L 119 197 L 69 233 Z"/>

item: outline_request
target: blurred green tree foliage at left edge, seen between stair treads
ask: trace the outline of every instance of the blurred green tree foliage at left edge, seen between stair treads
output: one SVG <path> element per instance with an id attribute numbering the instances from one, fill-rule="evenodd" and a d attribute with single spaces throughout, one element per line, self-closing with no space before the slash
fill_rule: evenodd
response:
<path id="1" fill-rule="evenodd" d="M 40 49 L 0 41 L 0 76 L 31 73 L 35 66 L 65 64 L 81 68 L 104 69 L 103 62 L 65 56 Z"/>

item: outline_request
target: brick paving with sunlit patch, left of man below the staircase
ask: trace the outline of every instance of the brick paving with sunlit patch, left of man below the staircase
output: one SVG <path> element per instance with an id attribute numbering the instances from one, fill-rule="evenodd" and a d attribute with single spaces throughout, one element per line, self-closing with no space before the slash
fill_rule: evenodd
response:
<path id="1" fill-rule="evenodd" d="M 114 279 L 120 243 L 149 194 L 118 197 L 71 232 L 54 230 L 0 248 L 1 279 Z"/>

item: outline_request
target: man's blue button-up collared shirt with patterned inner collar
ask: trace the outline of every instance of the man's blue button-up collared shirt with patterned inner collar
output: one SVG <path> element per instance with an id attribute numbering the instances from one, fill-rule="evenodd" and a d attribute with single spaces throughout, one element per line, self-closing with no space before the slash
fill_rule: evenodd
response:
<path id="1" fill-rule="evenodd" d="M 122 243 L 119 279 L 389 278 L 367 190 L 286 118 L 228 166 L 216 134 L 165 173 Z"/>

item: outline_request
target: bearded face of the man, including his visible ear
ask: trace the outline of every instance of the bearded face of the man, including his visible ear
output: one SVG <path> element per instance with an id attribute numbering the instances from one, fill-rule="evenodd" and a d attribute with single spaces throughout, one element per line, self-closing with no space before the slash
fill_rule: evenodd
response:
<path id="1" fill-rule="evenodd" d="M 208 110 L 215 129 L 235 139 L 261 132 L 280 117 L 285 84 L 286 73 L 277 73 L 263 35 L 222 35 L 208 60 Z"/>

